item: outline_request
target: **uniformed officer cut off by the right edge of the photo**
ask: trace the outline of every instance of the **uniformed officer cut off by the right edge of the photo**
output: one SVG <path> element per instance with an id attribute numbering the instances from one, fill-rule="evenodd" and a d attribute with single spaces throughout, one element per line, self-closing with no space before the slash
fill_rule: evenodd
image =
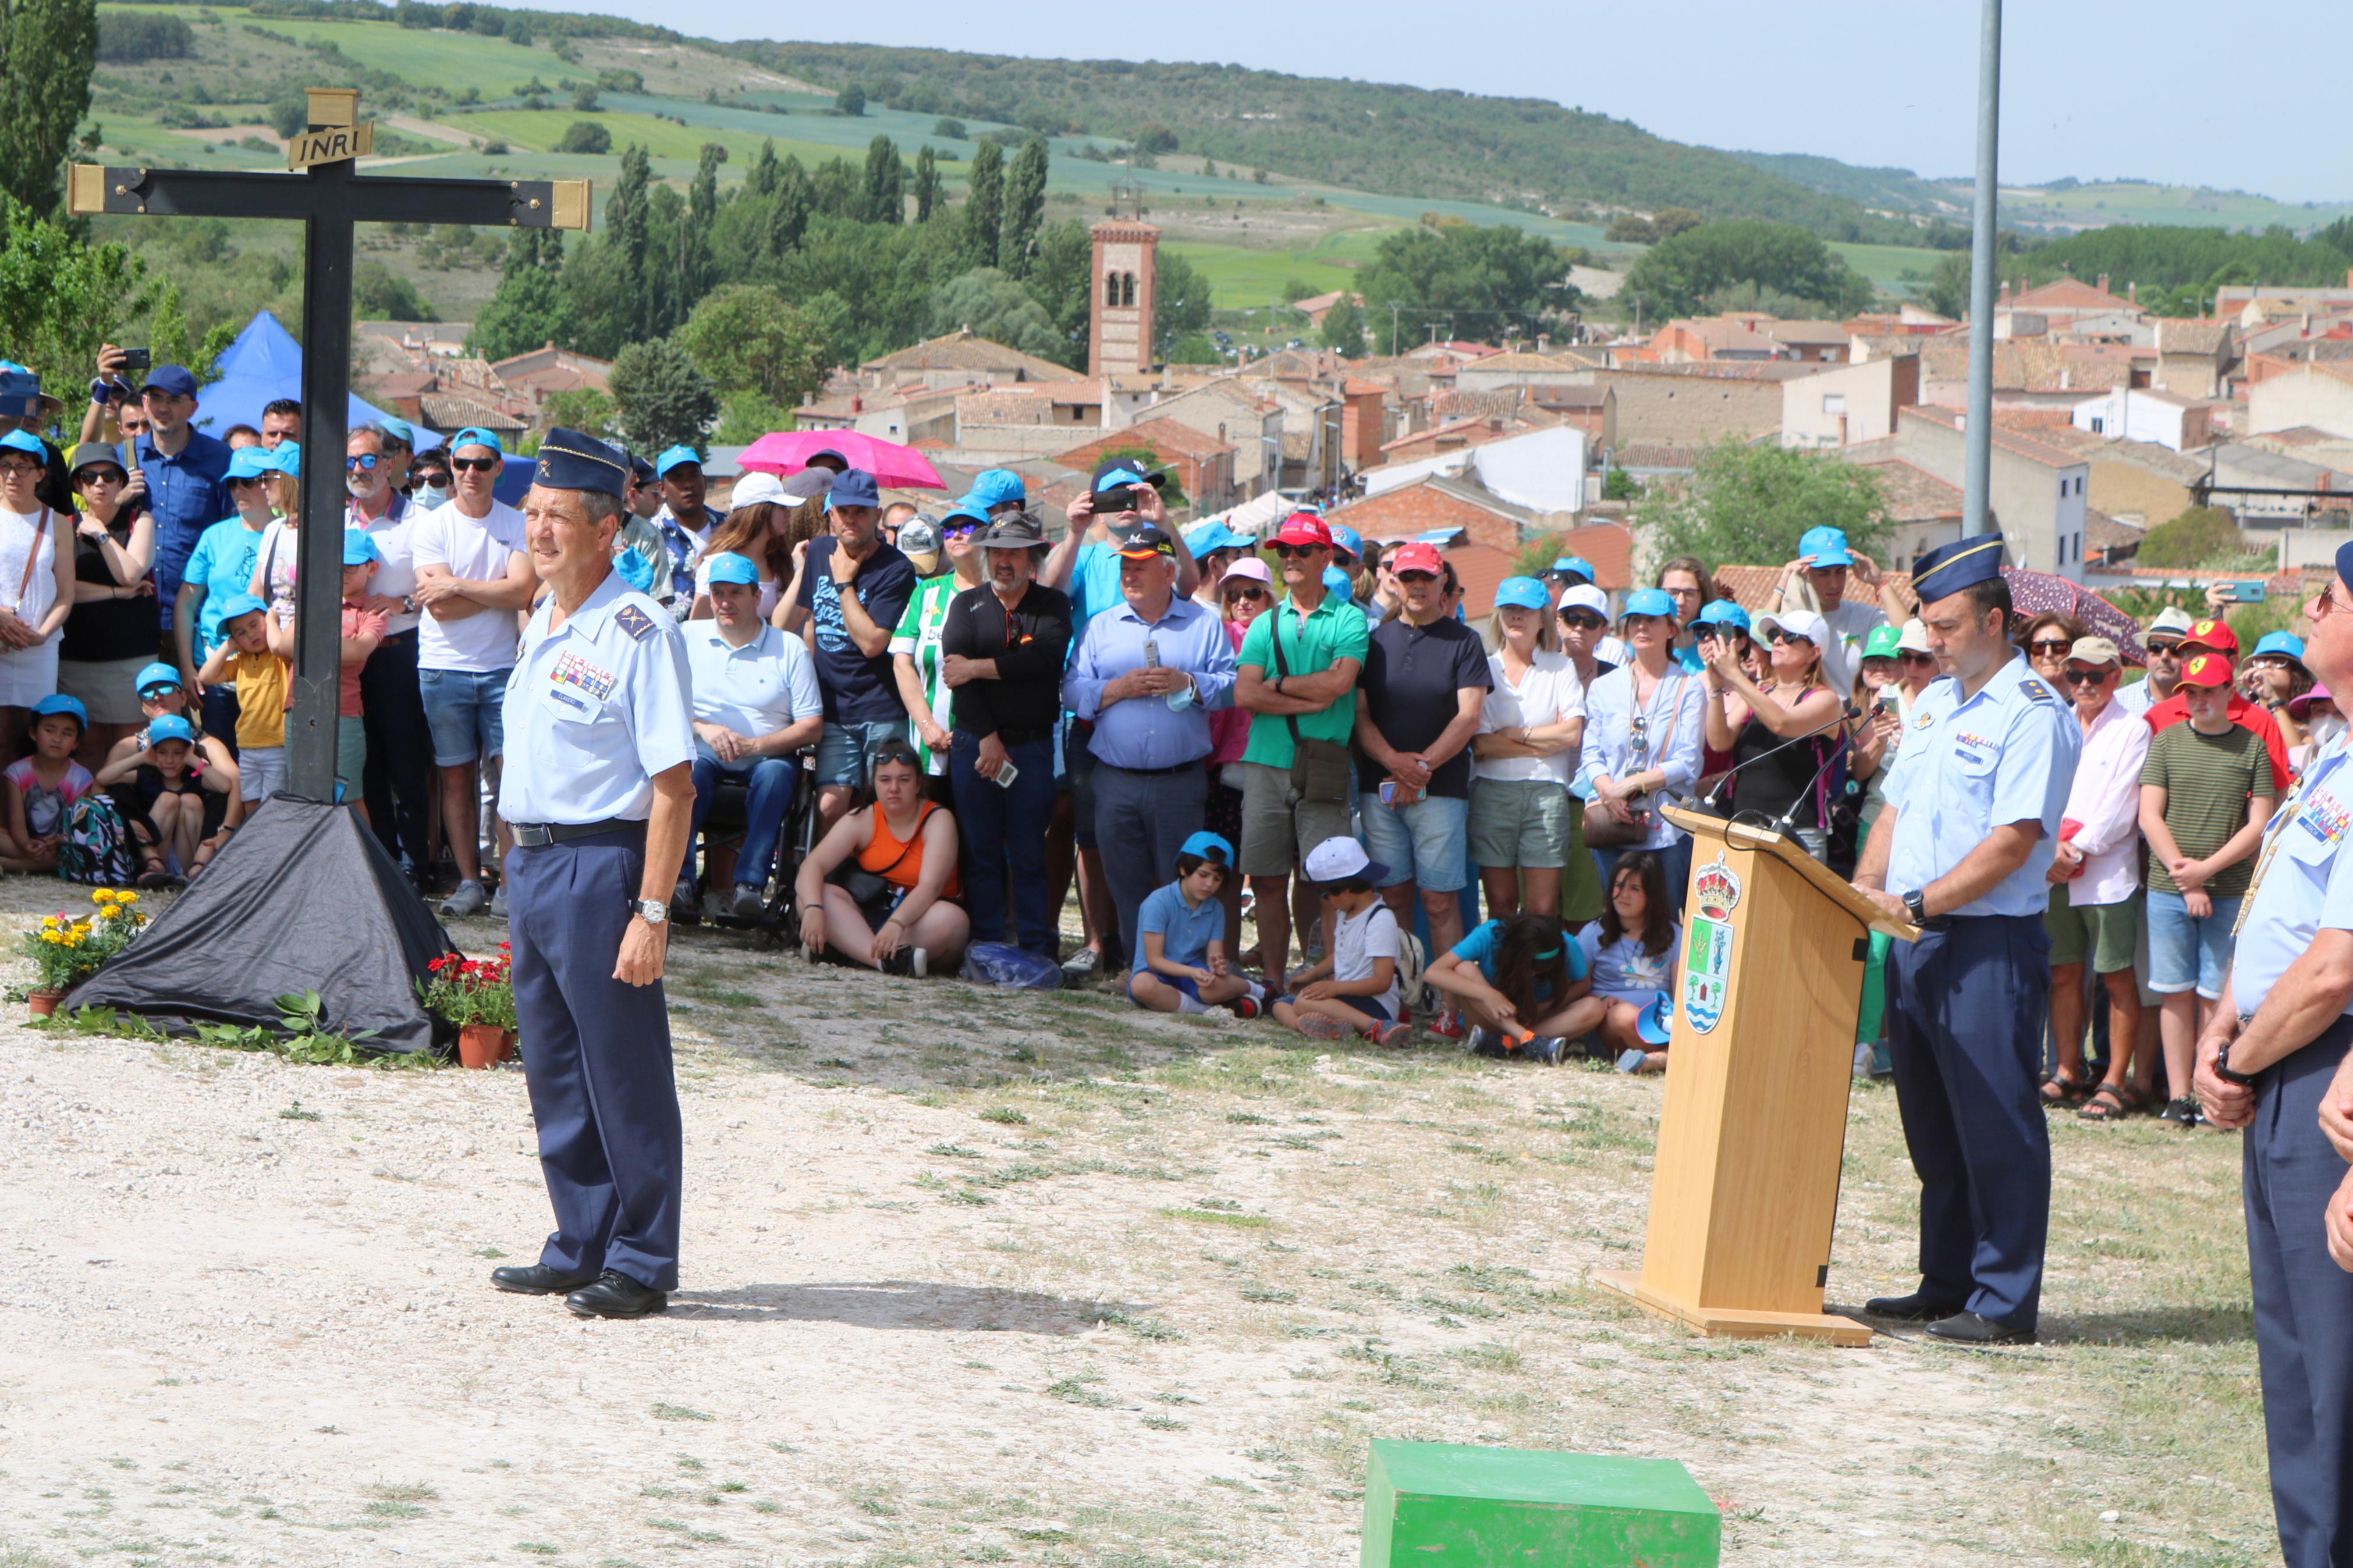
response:
<path id="1" fill-rule="evenodd" d="M 2353 689 L 2353 545 L 2304 611 L 2304 663 Z M 2334 741 L 2264 832 L 2198 1100 L 2247 1128 L 2247 1276 L 2287 1568 L 2353 1563 L 2353 764 Z M 2332 1147 L 2334 1145 L 2334 1147 Z"/>

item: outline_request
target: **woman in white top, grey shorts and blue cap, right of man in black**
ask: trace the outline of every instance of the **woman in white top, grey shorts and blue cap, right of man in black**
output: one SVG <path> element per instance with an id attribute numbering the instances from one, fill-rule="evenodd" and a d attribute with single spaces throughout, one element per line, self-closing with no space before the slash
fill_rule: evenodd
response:
<path id="1" fill-rule="evenodd" d="M 1579 924 L 1600 914 L 1600 877 L 1569 795 L 1586 733 L 1586 689 L 1553 651 L 1551 592 L 1529 576 L 1494 588 L 1494 644 L 1471 738 L 1471 858 L 1489 919 L 1518 910 Z M 1581 877 L 1574 872 L 1581 867 Z M 1562 879 L 1577 896 L 1562 905 Z M 1591 907 L 1588 907 L 1591 905 Z"/>

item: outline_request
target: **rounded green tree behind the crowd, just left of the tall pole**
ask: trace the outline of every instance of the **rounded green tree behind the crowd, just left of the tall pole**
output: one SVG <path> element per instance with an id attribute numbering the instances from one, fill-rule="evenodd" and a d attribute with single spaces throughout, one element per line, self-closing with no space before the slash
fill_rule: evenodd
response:
<path id="1" fill-rule="evenodd" d="M 1878 552 L 1892 534 L 1880 482 L 1868 468 L 1798 447 L 1706 447 L 1687 484 L 1635 503 L 1645 559 L 1697 555 L 1713 567 L 1777 567 L 1812 527 L 1845 529 L 1847 543 Z"/>

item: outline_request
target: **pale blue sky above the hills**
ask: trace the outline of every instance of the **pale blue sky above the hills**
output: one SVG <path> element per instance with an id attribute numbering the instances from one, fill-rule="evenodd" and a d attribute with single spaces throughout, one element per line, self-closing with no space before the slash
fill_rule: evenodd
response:
<path id="1" fill-rule="evenodd" d="M 2341 0 L 2337 0 L 2341 5 Z M 1294 75 L 1541 96 L 1675 141 L 1824 153 L 1918 174 L 1969 169 L 1979 7 L 1969 0 L 887 0 L 776 7 L 572 0 L 706 38 L 925 45 L 1061 59 L 1228 61 Z M 2231 12 L 2186 0 L 2007 7 L 2002 176 L 2141 176 L 2280 200 L 2353 197 L 2320 49 L 2322 0 Z M 2306 40 L 2306 75 L 2285 63 Z M 2280 54 L 2285 49 L 2287 54 Z M 2271 63 L 2249 85 L 2254 54 Z"/>

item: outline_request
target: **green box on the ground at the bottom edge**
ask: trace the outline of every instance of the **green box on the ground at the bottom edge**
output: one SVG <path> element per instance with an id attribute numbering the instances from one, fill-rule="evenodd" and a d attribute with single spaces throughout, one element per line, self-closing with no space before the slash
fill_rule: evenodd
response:
<path id="1" fill-rule="evenodd" d="M 1715 1568 L 1722 1523 L 1675 1460 L 1374 1441 L 1362 1568 Z"/>

